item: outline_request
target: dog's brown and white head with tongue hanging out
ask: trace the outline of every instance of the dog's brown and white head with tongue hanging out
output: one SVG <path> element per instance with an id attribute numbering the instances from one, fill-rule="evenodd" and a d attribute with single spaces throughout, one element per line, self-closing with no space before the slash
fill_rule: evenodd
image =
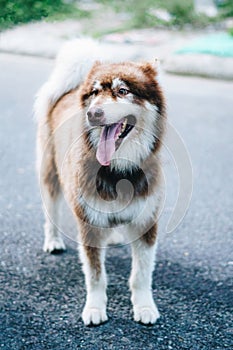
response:
<path id="1" fill-rule="evenodd" d="M 101 165 L 120 158 L 138 163 L 155 147 L 165 110 L 156 75 L 149 63 L 96 62 L 92 67 L 81 103 Z"/>

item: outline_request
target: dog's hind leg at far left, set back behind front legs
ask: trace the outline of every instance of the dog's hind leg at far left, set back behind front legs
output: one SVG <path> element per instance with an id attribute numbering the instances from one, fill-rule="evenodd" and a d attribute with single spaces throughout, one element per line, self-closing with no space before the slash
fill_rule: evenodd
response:
<path id="1" fill-rule="evenodd" d="M 65 250 L 65 244 L 58 229 L 61 189 L 55 163 L 53 141 L 47 124 L 40 125 L 38 129 L 37 171 L 45 215 L 43 249 L 45 252 L 59 253 Z"/>

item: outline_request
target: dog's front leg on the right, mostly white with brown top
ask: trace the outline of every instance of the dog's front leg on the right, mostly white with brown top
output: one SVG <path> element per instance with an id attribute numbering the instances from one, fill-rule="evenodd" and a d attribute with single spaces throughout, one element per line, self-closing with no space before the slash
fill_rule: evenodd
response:
<path id="1" fill-rule="evenodd" d="M 140 239 L 131 243 L 132 272 L 130 276 L 131 301 L 134 320 L 149 324 L 155 323 L 159 312 L 151 290 L 156 250 L 156 225 Z"/>

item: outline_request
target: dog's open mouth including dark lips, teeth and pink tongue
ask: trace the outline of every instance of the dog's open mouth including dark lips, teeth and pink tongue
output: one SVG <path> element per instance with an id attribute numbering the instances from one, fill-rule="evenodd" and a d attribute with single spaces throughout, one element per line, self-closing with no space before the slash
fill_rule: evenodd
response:
<path id="1" fill-rule="evenodd" d="M 108 166 L 110 164 L 114 152 L 119 148 L 135 124 L 136 118 L 130 114 L 117 123 L 102 126 L 96 152 L 96 158 L 101 165 Z"/>

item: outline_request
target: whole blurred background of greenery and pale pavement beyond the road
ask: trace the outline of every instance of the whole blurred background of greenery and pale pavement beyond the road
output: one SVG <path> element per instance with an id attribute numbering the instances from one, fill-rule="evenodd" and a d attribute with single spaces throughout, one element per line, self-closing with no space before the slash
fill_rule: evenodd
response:
<path id="1" fill-rule="evenodd" d="M 2 52 L 53 58 L 64 41 L 85 35 L 118 59 L 158 57 L 170 73 L 233 79 L 232 0 L 0 0 L 0 7 Z"/>

